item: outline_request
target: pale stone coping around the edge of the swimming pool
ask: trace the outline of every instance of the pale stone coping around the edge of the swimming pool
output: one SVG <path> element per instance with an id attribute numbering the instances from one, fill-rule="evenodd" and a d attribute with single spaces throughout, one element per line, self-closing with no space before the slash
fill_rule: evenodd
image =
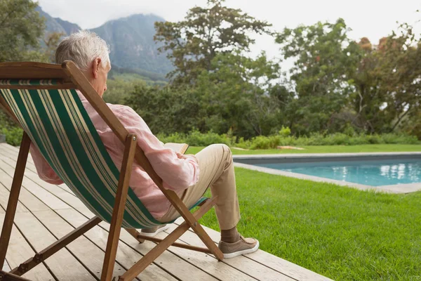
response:
<path id="1" fill-rule="evenodd" d="M 350 188 L 356 188 L 359 190 L 372 190 L 375 192 L 387 192 L 387 193 L 409 193 L 416 192 L 421 190 L 421 183 L 408 183 L 408 184 L 398 184 L 398 185 L 362 185 L 359 183 L 349 183 L 347 181 L 338 181 L 330 178 L 321 178 L 319 176 L 309 176 L 305 174 L 298 174 L 289 171 L 281 171 L 277 169 L 265 168 L 262 166 L 255 166 L 253 164 L 244 164 L 236 162 L 236 160 L 246 161 L 246 160 L 275 160 L 275 159 L 295 159 L 301 160 L 304 162 L 305 159 L 311 159 L 315 162 L 316 159 L 344 159 L 344 158 L 353 158 L 353 157 L 367 157 L 374 159 L 381 159 L 384 157 L 398 157 L 398 156 L 415 156 L 416 158 L 421 157 L 421 152 L 368 152 L 368 153 L 302 153 L 302 154 L 275 154 L 275 155 L 233 155 L 234 166 L 239 168 L 250 169 L 253 171 L 260 171 L 267 174 L 274 174 L 279 176 L 288 176 L 290 178 L 300 178 L 302 180 L 316 181 L 322 183 L 333 183 L 336 185 L 347 186 Z"/>

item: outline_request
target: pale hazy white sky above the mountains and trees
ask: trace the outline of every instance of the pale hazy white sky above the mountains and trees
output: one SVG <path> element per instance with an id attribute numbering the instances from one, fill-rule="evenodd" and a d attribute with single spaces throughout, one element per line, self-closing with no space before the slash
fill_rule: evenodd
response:
<path id="1" fill-rule="evenodd" d="M 206 0 L 38 0 L 39 5 L 52 15 L 75 22 L 82 28 L 93 28 L 107 20 L 133 13 L 154 13 L 166 20 L 184 18 L 193 6 L 204 6 Z M 421 20 L 420 0 L 227 0 L 226 5 L 241 8 L 259 20 L 267 20 L 274 29 L 311 25 L 317 21 L 333 22 L 344 18 L 352 28 L 353 39 L 368 37 L 373 43 L 396 30 L 396 21 L 415 24 Z M 421 33 L 421 22 L 416 25 Z M 267 51 L 269 56 L 278 53 L 273 39 L 258 37 L 253 53 Z"/>

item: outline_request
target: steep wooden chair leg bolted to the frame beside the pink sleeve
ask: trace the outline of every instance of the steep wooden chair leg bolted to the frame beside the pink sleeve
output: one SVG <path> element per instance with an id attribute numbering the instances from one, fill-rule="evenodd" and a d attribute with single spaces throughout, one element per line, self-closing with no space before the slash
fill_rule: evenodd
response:
<path id="1" fill-rule="evenodd" d="M 134 134 L 129 134 L 126 138 L 126 148 L 124 150 L 123 164 L 120 171 L 119 187 L 117 188 L 116 202 L 112 212 L 111 226 L 109 226 L 107 249 L 105 251 L 104 265 L 102 266 L 101 281 L 112 280 L 136 145 L 136 136 Z"/>

